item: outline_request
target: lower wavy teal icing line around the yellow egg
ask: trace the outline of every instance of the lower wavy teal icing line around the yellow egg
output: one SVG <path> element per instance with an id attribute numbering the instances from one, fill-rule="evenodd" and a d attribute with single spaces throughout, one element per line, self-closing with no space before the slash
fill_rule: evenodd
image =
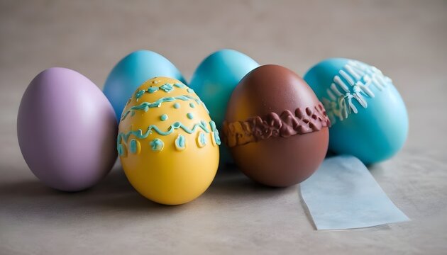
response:
<path id="1" fill-rule="evenodd" d="M 180 123 L 178 121 L 173 123 L 172 125 L 170 125 L 170 127 L 167 128 L 166 131 L 160 130 L 160 128 L 158 128 L 155 125 L 150 125 L 144 133 L 143 133 L 143 130 L 141 130 L 141 129 L 131 130 L 127 133 L 120 132 L 118 134 L 118 137 L 116 138 L 116 147 L 117 148 L 119 147 L 122 140 L 124 140 L 124 142 L 127 142 L 128 138 L 131 135 L 137 137 L 138 139 L 145 139 L 150 134 L 152 134 L 153 131 L 157 132 L 158 135 L 170 135 L 172 132 L 174 132 L 174 130 L 177 130 L 179 128 L 181 128 L 182 130 L 184 130 L 184 132 L 187 132 L 188 134 L 192 134 L 193 132 L 195 132 L 197 130 L 197 128 L 201 128 L 202 130 L 204 130 L 204 132 L 207 132 L 207 133 L 210 132 L 209 129 L 206 128 L 206 122 L 204 122 L 203 120 L 201 120 L 200 123 L 195 124 L 191 129 L 185 127 L 182 123 Z"/>

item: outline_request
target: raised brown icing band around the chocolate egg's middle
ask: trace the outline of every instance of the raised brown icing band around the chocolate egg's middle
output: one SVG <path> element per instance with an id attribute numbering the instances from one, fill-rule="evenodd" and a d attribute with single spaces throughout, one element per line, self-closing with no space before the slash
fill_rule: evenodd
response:
<path id="1" fill-rule="evenodd" d="M 323 105 L 319 103 L 314 106 L 314 109 L 310 107 L 297 108 L 295 113 L 285 110 L 281 115 L 268 113 L 265 118 L 255 116 L 245 121 L 235 121 L 233 123 L 224 121 L 223 142 L 228 147 L 235 147 L 270 137 L 302 135 L 330 126 L 331 121 Z"/>

